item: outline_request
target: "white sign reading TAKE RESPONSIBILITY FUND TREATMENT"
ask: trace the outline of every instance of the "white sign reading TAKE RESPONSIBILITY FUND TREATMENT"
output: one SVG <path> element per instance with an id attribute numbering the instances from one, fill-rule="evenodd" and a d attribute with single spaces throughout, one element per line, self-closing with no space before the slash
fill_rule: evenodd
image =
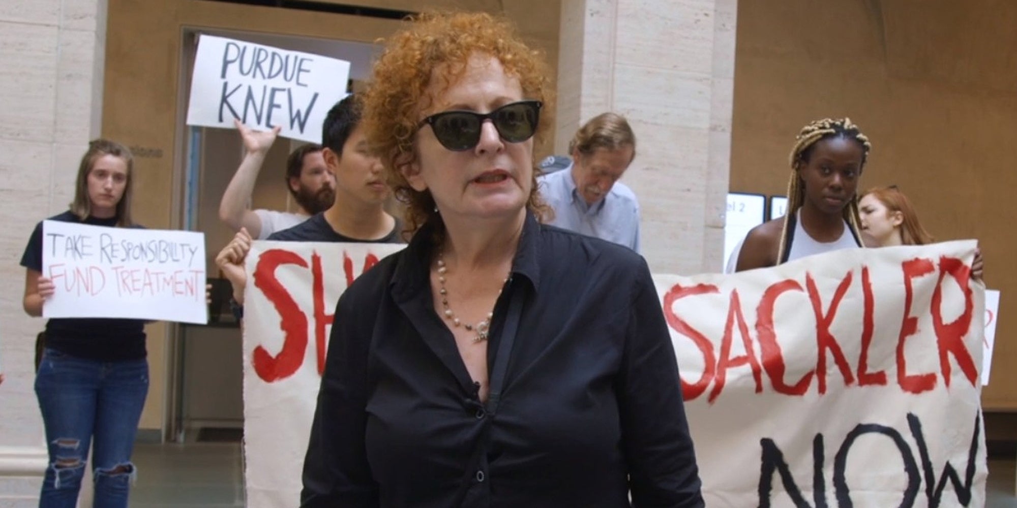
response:
<path id="1" fill-rule="evenodd" d="M 204 234 L 43 221 L 47 318 L 206 323 Z"/>

